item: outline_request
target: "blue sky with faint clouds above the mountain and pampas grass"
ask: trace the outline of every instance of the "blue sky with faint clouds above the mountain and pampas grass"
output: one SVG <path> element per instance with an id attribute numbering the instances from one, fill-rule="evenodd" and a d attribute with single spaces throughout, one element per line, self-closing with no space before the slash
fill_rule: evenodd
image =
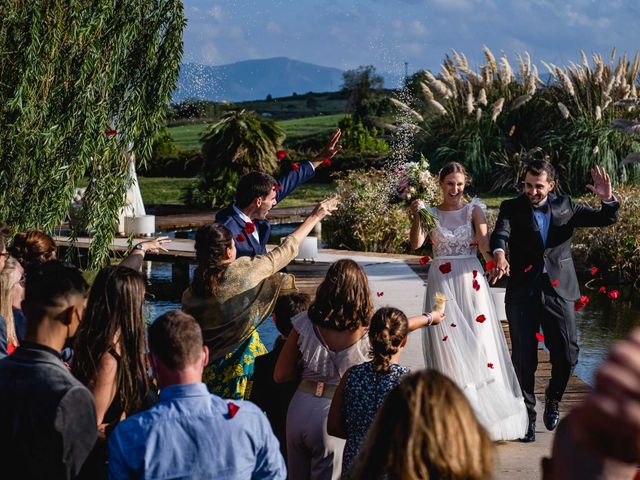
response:
<path id="1" fill-rule="evenodd" d="M 286 56 L 341 69 L 437 69 L 455 48 L 579 62 L 640 47 L 637 0 L 185 0 L 184 61 L 222 65 Z M 515 59 L 514 59 L 515 60 Z"/>

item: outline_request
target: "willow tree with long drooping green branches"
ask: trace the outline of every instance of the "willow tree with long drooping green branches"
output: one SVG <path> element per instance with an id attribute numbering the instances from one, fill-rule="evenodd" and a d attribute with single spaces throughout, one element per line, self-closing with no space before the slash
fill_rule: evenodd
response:
<path id="1" fill-rule="evenodd" d="M 182 55 L 180 0 L 0 2 L 0 219 L 52 231 L 87 179 L 79 229 L 102 265 L 131 153 L 151 155 Z M 75 237 L 75 232 L 72 232 Z"/>

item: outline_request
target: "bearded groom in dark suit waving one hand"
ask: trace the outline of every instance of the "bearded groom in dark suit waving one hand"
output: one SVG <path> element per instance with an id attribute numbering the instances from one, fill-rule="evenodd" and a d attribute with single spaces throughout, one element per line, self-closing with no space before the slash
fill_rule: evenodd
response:
<path id="1" fill-rule="evenodd" d="M 574 302 L 580 297 L 571 258 L 571 237 L 576 227 L 604 227 L 615 223 L 619 204 L 611 179 L 602 167 L 591 170 L 587 188 L 602 200 L 599 210 L 574 204 L 568 195 L 551 193 L 556 185 L 553 166 L 531 162 L 525 172 L 524 194 L 500 205 L 491 250 L 496 268 L 492 283 L 508 275 L 505 297 L 511 335 L 513 366 L 529 413 L 524 442 L 535 440 L 535 373 L 542 325 L 551 356 L 551 379 L 545 391 L 544 424 L 553 430 L 560 417 L 562 395 L 578 363 Z M 505 250 L 509 251 L 510 262 Z"/>

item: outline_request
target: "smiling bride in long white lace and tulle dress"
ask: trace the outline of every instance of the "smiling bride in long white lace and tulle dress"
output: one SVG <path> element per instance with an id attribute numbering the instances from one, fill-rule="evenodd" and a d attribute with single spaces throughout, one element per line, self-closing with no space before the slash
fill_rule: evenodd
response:
<path id="1" fill-rule="evenodd" d="M 527 412 L 477 257 L 480 249 L 485 260 L 492 259 L 486 207 L 477 198 L 463 202 L 468 176 L 460 163 L 448 163 L 438 176 L 444 199 L 431 209 L 437 218 L 431 232 L 420 227 L 420 202 L 411 205 L 411 247 L 419 248 L 429 235 L 435 257 L 425 311 L 432 309 L 436 293 L 446 297 L 447 321 L 423 329 L 425 366 L 449 376 L 463 389 L 493 440 L 519 439 L 527 431 Z"/>

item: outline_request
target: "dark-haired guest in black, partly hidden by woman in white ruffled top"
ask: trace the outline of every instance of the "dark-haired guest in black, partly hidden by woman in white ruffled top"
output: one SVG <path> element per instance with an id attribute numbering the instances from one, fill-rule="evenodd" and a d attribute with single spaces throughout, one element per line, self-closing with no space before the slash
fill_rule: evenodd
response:
<path id="1" fill-rule="evenodd" d="M 286 458 L 286 422 L 289 402 L 298 388 L 298 379 L 276 383 L 273 372 L 284 342 L 293 328 L 291 319 L 309 308 L 311 297 L 306 293 L 288 293 L 281 295 L 273 310 L 273 320 L 280 336 L 273 350 L 256 358 L 253 372 L 253 387 L 250 400 L 267 414 L 269 423 L 280 442 L 280 451 Z"/>

